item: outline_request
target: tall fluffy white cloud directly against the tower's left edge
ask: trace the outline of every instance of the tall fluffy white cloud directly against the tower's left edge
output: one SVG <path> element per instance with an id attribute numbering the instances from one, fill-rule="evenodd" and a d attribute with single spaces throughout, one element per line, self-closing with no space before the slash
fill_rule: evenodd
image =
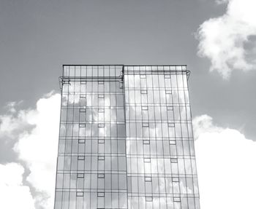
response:
<path id="1" fill-rule="evenodd" d="M 16 111 L 14 107 L 0 116 L 0 138 L 17 141 L 13 150 L 30 171 L 25 180 L 34 188 L 36 208 L 53 208 L 60 95 L 50 92 L 37 101 L 36 109 Z"/>

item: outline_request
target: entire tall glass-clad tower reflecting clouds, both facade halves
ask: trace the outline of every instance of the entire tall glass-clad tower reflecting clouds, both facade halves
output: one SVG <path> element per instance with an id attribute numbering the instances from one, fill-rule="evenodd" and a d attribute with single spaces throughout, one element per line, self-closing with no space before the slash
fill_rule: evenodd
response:
<path id="1" fill-rule="evenodd" d="M 186 66 L 64 66 L 55 209 L 199 209 Z"/>

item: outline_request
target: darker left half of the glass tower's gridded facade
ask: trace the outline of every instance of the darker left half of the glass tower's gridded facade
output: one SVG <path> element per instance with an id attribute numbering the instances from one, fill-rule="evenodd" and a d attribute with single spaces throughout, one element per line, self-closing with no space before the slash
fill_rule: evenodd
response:
<path id="1" fill-rule="evenodd" d="M 64 68 L 55 208 L 127 208 L 121 72 Z"/>

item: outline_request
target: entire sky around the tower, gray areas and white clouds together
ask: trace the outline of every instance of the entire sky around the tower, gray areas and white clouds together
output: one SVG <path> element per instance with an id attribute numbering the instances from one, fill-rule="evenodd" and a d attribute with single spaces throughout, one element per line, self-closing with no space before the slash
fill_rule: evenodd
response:
<path id="1" fill-rule="evenodd" d="M 52 208 L 63 64 L 187 64 L 201 208 L 256 208 L 255 7 L 1 0 L 0 208 Z"/>

